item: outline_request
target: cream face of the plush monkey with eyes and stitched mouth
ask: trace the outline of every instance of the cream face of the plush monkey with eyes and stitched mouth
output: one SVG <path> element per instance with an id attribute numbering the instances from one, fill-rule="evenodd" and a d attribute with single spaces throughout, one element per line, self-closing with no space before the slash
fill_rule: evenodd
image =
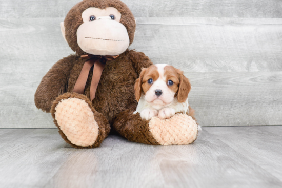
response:
<path id="1" fill-rule="evenodd" d="M 82 13 L 83 24 L 77 29 L 77 44 L 93 55 L 119 55 L 129 46 L 126 27 L 119 23 L 121 14 L 113 7 L 88 8 Z"/>

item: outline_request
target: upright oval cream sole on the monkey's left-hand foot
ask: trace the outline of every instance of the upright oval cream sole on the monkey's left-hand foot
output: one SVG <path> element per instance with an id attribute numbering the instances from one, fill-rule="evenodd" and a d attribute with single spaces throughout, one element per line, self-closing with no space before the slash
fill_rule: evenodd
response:
<path id="1" fill-rule="evenodd" d="M 55 119 L 68 140 L 78 146 L 93 145 L 99 126 L 88 104 L 78 98 L 61 100 L 55 108 Z"/>

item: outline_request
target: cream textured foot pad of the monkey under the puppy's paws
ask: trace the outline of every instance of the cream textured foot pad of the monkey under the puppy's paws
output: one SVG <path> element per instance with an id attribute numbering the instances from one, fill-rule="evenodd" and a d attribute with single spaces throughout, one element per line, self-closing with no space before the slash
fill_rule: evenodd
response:
<path id="1" fill-rule="evenodd" d="M 175 114 L 169 119 L 152 117 L 149 130 L 160 145 L 185 145 L 196 139 L 198 126 L 191 116 Z"/>

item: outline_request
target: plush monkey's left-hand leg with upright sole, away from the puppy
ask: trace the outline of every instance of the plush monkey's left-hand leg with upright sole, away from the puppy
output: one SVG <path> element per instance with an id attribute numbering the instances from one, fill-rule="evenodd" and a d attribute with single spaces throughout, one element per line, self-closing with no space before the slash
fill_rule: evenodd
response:
<path id="1" fill-rule="evenodd" d="M 58 96 L 51 113 L 60 135 L 74 148 L 99 147 L 110 133 L 106 117 L 92 107 L 85 95 L 64 93 Z"/>

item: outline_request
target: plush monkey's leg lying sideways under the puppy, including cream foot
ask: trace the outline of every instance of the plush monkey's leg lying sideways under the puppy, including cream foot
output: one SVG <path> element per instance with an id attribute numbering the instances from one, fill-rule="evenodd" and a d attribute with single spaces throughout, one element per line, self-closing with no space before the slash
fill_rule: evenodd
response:
<path id="1" fill-rule="evenodd" d="M 129 141 L 151 145 L 184 145 L 196 140 L 198 126 L 187 114 L 175 114 L 169 119 L 153 117 L 144 120 L 132 110 L 120 113 L 114 129 Z"/>

